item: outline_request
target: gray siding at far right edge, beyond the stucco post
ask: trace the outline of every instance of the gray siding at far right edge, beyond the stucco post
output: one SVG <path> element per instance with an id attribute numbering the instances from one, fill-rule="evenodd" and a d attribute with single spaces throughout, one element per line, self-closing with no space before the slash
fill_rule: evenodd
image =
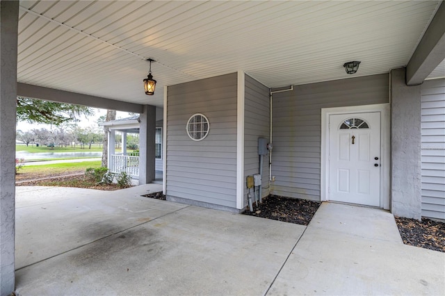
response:
<path id="1" fill-rule="evenodd" d="M 445 219 L 445 79 L 421 86 L 422 216 Z"/>

